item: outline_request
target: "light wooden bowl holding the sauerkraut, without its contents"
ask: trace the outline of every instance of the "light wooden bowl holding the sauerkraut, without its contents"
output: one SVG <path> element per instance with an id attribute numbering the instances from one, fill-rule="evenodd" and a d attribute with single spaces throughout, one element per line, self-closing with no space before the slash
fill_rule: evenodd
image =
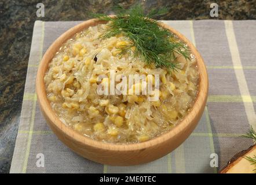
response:
<path id="1" fill-rule="evenodd" d="M 188 138 L 203 114 L 209 86 L 203 58 L 200 56 L 195 46 L 193 46 L 185 36 L 168 25 L 162 24 L 162 27 L 170 29 L 171 32 L 176 34 L 190 47 L 191 52 L 195 55 L 198 61 L 198 69 L 200 73 L 199 88 L 198 95 L 191 111 L 185 116 L 184 120 L 173 129 L 146 142 L 131 144 L 100 142 L 79 134 L 58 119 L 50 106 L 50 102 L 46 98 L 46 88 L 43 80 L 49 62 L 52 61 L 52 58 L 61 45 L 63 45 L 66 40 L 72 38 L 77 32 L 97 24 L 104 24 L 104 22 L 92 19 L 78 24 L 75 27 L 68 29 L 68 31 L 56 39 L 49 49 L 47 49 L 39 65 L 36 76 L 36 92 L 42 114 L 54 134 L 57 135 L 58 139 L 74 150 L 75 153 L 78 153 L 89 160 L 107 165 L 128 166 L 150 162 L 163 157 L 181 145 L 181 143 Z"/>

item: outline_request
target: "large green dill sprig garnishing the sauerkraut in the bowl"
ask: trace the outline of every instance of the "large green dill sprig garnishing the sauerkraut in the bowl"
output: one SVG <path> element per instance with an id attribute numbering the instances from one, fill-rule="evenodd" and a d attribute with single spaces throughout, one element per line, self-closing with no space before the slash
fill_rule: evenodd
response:
<path id="1" fill-rule="evenodd" d="M 120 54 L 130 51 L 140 57 L 146 64 L 155 64 L 156 67 L 177 70 L 174 53 L 181 54 L 189 59 L 189 49 L 184 43 L 177 42 L 175 35 L 168 29 L 160 26 L 160 21 L 153 20 L 155 16 L 167 13 L 167 9 L 153 9 L 145 14 L 141 5 L 134 5 L 126 10 L 119 6 L 116 17 L 105 14 L 94 14 L 99 20 L 108 21 L 109 28 L 101 36 L 102 39 L 111 36 L 123 35 L 129 41 L 129 46 L 123 46 Z"/>

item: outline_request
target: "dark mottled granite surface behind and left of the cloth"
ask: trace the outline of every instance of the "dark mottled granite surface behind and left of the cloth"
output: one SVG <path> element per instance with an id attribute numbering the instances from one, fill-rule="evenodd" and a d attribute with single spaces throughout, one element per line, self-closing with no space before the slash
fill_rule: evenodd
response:
<path id="1" fill-rule="evenodd" d="M 36 4 L 45 5 L 45 17 L 36 17 Z M 0 173 L 8 173 L 19 125 L 25 75 L 35 20 L 87 20 L 90 12 L 112 13 L 114 5 L 129 8 L 137 1 L 5 1 L 0 0 Z M 211 18 L 210 3 L 219 5 L 219 19 L 256 19 L 256 1 L 140 1 L 145 10 L 166 6 L 164 20 Z"/>

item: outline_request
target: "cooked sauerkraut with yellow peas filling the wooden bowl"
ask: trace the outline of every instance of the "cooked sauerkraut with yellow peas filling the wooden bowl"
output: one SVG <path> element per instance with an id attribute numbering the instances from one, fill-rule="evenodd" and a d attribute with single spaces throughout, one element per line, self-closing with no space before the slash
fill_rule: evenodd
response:
<path id="1" fill-rule="evenodd" d="M 68 40 L 49 63 L 45 74 L 47 98 L 63 124 L 90 138 L 112 143 L 144 142 L 177 125 L 189 112 L 197 91 L 199 73 L 196 58 L 175 54 L 180 69 L 148 66 L 131 52 L 120 55 L 129 44 L 125 36 L 99 39 L 106 24 L 89 27 Z M 178 38 L 177 38 L 178 40 Z M 97 87 L 108 82 L 98 76 L 145 75 L 153 86 L 159 75 L 159 99 L 145 95 L 100 95 Z M 131 88 L 131 87 L 128 87 Z"/>

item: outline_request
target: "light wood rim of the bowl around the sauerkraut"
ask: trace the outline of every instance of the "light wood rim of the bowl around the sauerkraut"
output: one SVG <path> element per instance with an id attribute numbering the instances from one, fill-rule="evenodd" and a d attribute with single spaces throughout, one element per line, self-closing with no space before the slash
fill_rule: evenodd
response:
<path id="1" fill-rule="evenodd" d="M 179 135 L 179 134 L 182 134 L 182 132 L 183 133 L 186 132 L 187 131 L 186 128 L 189 126 L 189 124 L 197 124 L 193 120 L 195 119 L 196 115 L 200 114 L 200 109 L 202 108 L 202 106 L 205 106 L 205 102 L 208 94 L 209 82 L 208 82 L 206 66 L 204 65 L 203 58 L 200 56 L 195 46 L 193 46 L 192 43 L 189 42 L 189 40 L 186 39 L 184 35 L 180 34 L 180 32 L 176 31 L 174 28 L 171 28 L 169 25 L 166 25 L 164 23 L 161 24 L 162 27 L 170 29 L 171 32 L 173 32 L 181 40 L 183 40 L 188 45 L 188 47 L 190 47 L 191 52 L 194 54 L 198 62 L 198 71 L 200 75 L 198 95 L 195 99 L 193 107 L 191 108 L 190 112 L 185 116 L 185 118 L 182 121 L 180 121 L 180 123 L 178 123 L 170 131 L 167 131 L 164 134 L 161 134 L 159 136 L 156 136 L 155 138 L 152 138 L 146 142 L 141 142 L 141 143 L 101 142 L 101 141 L 83 136 L 82 134 L 79 134 L 78 132 L 76 132 L 74 129 L 63 124 L 58 119 L 54 111 L 52 110 L 52 107 L 50 106 L 50 102 L 46 98 L 45 82 L 43 80 L 43 77 L 45 76 L 45 72 L 48 69 L 49 62 L 52 60 L 52 59 L 49 60 L 49 58 L 53 58 L 54 54 L 60 48 L 60 46 L 67 39 L 74 36 L 75 33 L 82 31 L 83 29 L 89 27 L 90 25 L 93 26 L 96 24 L 103 24 L 103 22 L 93 18 L 93 19 L 84 21 L 83 23 L 80 23 L 75 27 L 68 29 L 68 31 L 64 32 L 64 34 L 58 37 L 52 43 L 49 49 L 47 49 L 38 67 L 38 73 L 36 75 L 36 93 L 38 97 L 37 98 L 38 103 L 39 105 L 41 105 L 41 111 L 46 113 L 47 118 L 62 132 L 62 134 L 70 136 L 71 138 L 76 140 L 76 142 L 81 143 L 82 145 L 92 146 L 95 149 L 98 148 L 98 149 L 111 150 L 111 151 L 133 151 L 133 150 L 136 151 L 136 150 L 143 150 L 148 147 L 160 145 L 160 143 L 163 143 L 166 140 L 174 138 L 175 135 Z"/>

